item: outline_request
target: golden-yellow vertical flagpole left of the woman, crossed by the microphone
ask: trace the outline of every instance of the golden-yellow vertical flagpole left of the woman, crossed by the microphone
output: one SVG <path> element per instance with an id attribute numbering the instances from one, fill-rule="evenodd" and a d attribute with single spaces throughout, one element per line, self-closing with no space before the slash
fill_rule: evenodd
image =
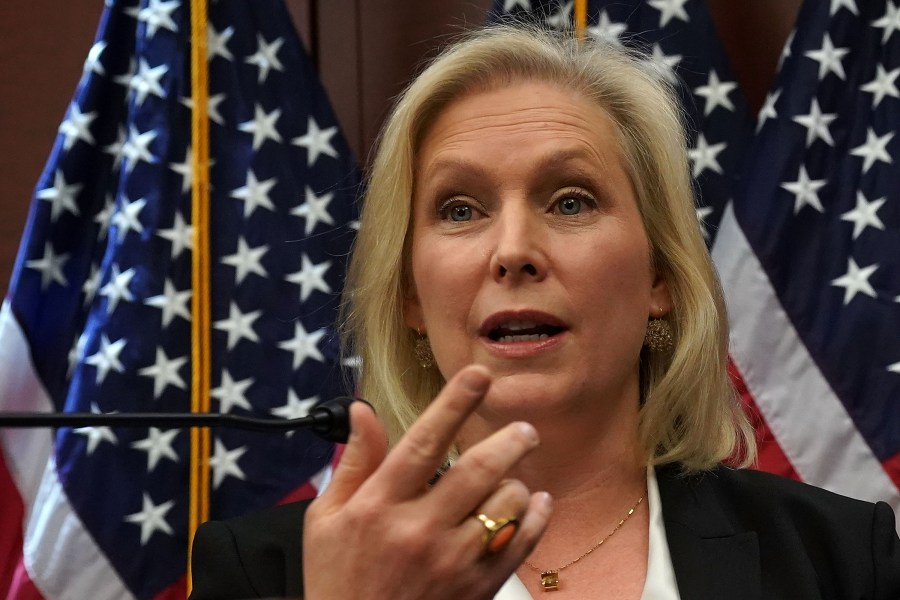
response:
<path id="1" fill-rule="evenodd" d="M 210 411 L 209 268 L 209 73 L 206 51 L 206 0 L 191 0 L 191 412 Z M 209 519 L 210 430 L 191 429 L 190 512 L 187 594 L 191 593 L 190 550 L 197 527 Z"/>

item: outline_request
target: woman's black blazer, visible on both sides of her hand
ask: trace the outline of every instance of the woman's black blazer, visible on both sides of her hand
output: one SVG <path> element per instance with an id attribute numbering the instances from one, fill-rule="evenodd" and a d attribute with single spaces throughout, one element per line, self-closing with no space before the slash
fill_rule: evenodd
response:
<path id="1" fill-rule="evenodd" d="M 900 538 L 870 504 L 750 470 L 657 469 L 682 600 L 900 600 Z M 303 593 L 309 502 L 205 523 L 194 538 L 192 600 Z"/>

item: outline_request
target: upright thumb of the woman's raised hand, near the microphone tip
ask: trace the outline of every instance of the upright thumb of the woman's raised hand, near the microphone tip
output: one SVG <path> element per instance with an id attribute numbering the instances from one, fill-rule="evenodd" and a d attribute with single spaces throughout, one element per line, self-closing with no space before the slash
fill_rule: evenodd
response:
<path id="1" fill-rule="evenodd" d="M 326 506 L 342 506 L 368 479 L 387 455 L 387 436 L 372 407 L 350 405 L 350 437 L 331 483 L 319 497 Z"/>

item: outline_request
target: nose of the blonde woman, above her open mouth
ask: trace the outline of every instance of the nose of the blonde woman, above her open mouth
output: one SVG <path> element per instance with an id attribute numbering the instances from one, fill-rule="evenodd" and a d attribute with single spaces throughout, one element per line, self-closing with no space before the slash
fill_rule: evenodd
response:
<path id="1" fill-rule="evenodd" d="M 502 211 L 496 222 L 491 275 L 498 282 L 540 281 L 547 274 L 546 232 L 530 210 Z"/>

